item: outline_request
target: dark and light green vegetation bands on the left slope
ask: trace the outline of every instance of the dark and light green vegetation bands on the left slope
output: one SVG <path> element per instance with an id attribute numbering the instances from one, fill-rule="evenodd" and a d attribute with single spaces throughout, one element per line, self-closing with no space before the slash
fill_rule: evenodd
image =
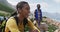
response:
<path id="1" fill-rule="evenodd" d="M 10 16 L 11 13 L 14 12 L 14 9 L 5 4 L 0 3 L 0 11 L 8 12 L 7 14 L 0 12 L 0 16 Z"/>

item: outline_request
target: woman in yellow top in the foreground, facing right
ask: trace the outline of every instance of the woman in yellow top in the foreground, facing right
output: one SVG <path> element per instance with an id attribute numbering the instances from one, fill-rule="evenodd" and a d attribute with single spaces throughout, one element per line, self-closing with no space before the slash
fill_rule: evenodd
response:
<path id="1" fill-rule="evenodd" d="M 16 23 L 14 17 L 10 17 L 6 23 L 5 32 L 25 32 L 24 31 L 24 19 L 27 19 L 27 25 L 33 32 L 40 32 L 34 24 L 28 18 L 30 13 L 30 6 L 27 2 L 21 1 L 16 6 L 18 12 L 18 22 Z"/>

